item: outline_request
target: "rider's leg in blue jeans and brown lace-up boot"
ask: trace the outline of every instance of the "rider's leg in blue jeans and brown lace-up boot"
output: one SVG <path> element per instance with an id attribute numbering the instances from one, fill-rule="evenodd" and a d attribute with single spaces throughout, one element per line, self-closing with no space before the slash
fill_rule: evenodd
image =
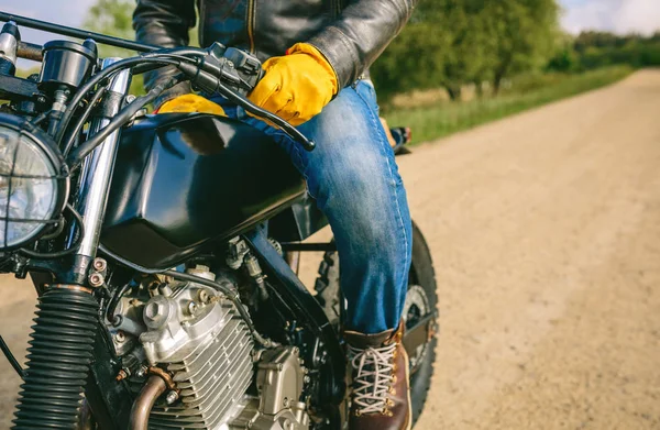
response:
<path id="1" fill-rule="evenodd" d="M 411 221 L 373 87 L 359 81 L 343 89 L 300 126 L 317 143 L 309 153 L 282 132 L 248 121 L 287 148 L 330 221 L 354 367 L 351 428 L 407 428 L 407 363 L 402 332 L 396 329 L 407 289 Z"/>

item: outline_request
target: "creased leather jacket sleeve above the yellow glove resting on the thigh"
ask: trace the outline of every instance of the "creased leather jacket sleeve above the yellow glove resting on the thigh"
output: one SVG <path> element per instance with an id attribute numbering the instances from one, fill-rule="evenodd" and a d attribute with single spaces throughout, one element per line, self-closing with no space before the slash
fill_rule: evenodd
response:
<path id="1" fill-rule="evenodd" d="M 337 21 L 307 42 L 328 59 L 339 88 L 343 88 L 355 81 L 402 31 L 417 1 L 353 0 Z"/>

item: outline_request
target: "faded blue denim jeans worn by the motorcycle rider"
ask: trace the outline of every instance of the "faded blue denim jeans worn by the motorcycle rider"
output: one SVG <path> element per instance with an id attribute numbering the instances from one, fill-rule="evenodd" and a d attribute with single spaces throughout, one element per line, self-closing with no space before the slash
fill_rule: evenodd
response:
<path id="1" fill-rule="evenodd" d="M 371 82 L 344 88 L 298 128 L 316 142 L 312 152 L 242 108 L 222 104 L 229 117 L 264 131 L 285 148 L 328 217 L 348 304 L 345 328 L 378 333 L 398 327 L 408 286 L 411 221 Z"/>

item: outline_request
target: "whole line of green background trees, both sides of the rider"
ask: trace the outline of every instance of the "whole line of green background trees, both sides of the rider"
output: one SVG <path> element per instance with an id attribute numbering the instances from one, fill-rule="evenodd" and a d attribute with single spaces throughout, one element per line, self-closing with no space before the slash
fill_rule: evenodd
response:
<path id="1" fill-rule="evenodd" d="M 133 0 L 97 0 L 85 26 L 133 38 Z M 371 68 L 378 96 L 386 102 L 395 93 L 444 88 L 459 100 L 468 85 L 497 95 L 507 79 L 530 71 L 660 65 L 660 33 L 571 36 L 560 29 L 560 12 L 557 0 L 422 0 Z M 130 55 L 111 47 L 101 54 Z"/>

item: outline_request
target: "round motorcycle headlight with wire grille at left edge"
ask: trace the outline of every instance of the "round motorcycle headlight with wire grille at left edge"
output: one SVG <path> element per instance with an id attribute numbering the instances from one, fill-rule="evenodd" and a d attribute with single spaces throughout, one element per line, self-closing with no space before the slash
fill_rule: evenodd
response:
<path id="1" fill-rule="evenodd" d="M 0 113 L 0 251 L 25 245 L 59 217 L 66 166 L 46 133 Z"/>

